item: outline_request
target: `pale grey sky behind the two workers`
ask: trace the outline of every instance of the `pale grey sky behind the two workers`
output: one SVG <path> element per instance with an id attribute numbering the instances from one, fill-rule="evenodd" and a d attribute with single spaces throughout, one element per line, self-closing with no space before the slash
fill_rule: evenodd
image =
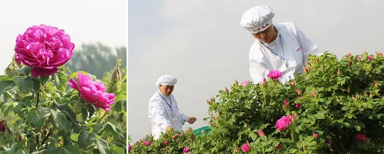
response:
<path id="1" fill-rule="evenodd" d="M 295 23 L 338 56 L 383 51 L 383 0 L 129 0 L 128 134 L 134 141 L 151 133 L 148 100 L 161 75 L 178 78 L 173 94 L 180 111 L 200 119 L 208 116 L 205 99 L 234 79 L 251 80 L 254 39 L 239 21 L 255 5 L 270 5 L 274 23 Z"/>

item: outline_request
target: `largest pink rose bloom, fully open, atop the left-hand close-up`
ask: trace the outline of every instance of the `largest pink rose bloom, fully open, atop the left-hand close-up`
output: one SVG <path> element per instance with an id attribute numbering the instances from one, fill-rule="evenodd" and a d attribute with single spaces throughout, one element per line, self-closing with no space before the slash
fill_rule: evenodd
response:
<path id="1" fill-rule="evenodd" d="M 42 24 L 19 34 L 15 45 L 18 58 L 32 68 L 34 77 L 55 74 L 57 67 L 70 60 L 73 49 L 74 44 L 64 30 Z"/>

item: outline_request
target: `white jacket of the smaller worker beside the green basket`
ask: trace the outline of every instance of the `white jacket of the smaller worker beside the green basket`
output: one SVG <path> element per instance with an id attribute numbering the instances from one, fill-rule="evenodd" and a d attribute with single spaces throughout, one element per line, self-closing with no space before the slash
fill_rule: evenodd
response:
<path id="1" fill-rule="evenodd" d="M 173 113 L 175 113 L 178 118 L 176 121 L 172 119 L 171 108 L 161 97 L 160 90 L 157 90 L 149 99 L 148 107 L 148 118 L 152 124 L 152 135 L 154 139 L 158 139 L 162 133 L 165 132 L 165 128 L 168 125 L 170 125 L 174 130 L 181 132 L 184 122 L 188 121 L 188 116 L 179 112 L 176 99 L 172 94 L 170 96 L 163 97 L 169 104 L 172 102 L 171 106 Z"/>

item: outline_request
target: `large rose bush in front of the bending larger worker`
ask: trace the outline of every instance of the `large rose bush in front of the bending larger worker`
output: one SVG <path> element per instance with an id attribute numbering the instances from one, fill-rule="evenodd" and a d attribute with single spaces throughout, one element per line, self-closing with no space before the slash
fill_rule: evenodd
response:
<path id="1" fill-rule="evenodd" d="M 208 101 L 211 131 L 183 146 L 194 154 L 384 153 L 383 54 L 325 52 L 304 72 L 285 85 L 274 71 L 220 90 Z"/>

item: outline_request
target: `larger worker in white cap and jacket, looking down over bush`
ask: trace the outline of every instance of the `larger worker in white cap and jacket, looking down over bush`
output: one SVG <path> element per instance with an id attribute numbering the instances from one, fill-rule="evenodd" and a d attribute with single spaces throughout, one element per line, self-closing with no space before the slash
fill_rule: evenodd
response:
<path id="1" fill-rule="evenodd" d="M 280 70 L 284 84 L 303 68 L 309 55 L 321 55 L 314 44 L 292 22 L 272 23 L 269 6 L 255 6 L 241 17 L 240 25 L 255 38 L 249 51 L 249 72 L 254 84 L 263 81 L 271 70 Z"/>

